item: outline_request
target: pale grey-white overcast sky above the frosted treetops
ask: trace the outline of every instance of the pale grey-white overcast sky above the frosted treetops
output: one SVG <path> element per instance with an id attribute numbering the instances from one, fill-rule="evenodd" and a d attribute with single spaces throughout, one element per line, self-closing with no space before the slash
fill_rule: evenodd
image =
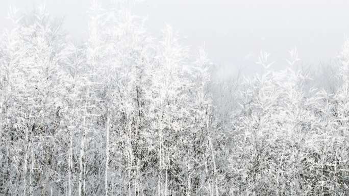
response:
<path id="1" fill-rule="evenodd" d="M 31 10 L 43 2 L 52 15 L 65 16 L 68 33 L 84 38 L 88 0 L 2 0 L 0 26 L 10 27 L 5 19 L 10 5 Z M 155 36 L 168 23 L 187 45 L 196 48 L 205 41 L 212 61 L 230 70 L 255 66 L 260 50 L 269 52 L 277 66 L 293 46 L 304 63 L 328 62 L 349 33 L 348 10 L 345 0 L 147 0 L 134 13 L 148 16 Z"/>

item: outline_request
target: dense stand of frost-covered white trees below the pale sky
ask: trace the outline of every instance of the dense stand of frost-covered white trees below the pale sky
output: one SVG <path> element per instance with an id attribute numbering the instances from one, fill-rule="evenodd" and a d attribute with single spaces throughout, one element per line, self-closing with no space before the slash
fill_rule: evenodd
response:
<path id="1" fill-rule="evenodd" d="M 349 41 L 221 79 L 204 46 L 93 2 L 82 44 L 44 7 L 9 12 L 0 195 L 349 195 Z"/>

